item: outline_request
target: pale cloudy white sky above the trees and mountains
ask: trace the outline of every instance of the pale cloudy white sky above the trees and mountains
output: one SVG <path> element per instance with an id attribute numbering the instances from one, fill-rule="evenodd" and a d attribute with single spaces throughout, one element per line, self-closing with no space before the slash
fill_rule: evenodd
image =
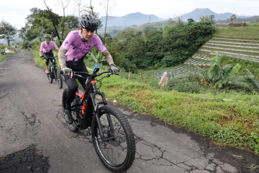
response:
<path id="1" fill-rule="evenodd" d="M 74 1 L 77 0 L 69 1 L 65 15 L 78 15 Z M 92 6 L 100 13 L 100 16 L 105 15 L 104 6 L 102 6 L 104 1 L 92 0 Z M 61 0 L 45 0 L 45 2 L 54 13 L 63 15 Z M 129 13 L 141 12 L 165 19 L 174 15 L 183 15 L 196 8 L 209 8 L 216 13 L 231 12 L 239 16 L 259 15 L 259 0 L 110 0 L 109 3 L 116 3 L 111 16 L 125 16 Z M 90 0 L 82 0 L 82 4 L 90 4 Z M 4 19 L 20 29 L 25 25 L 25 18 L 33 7 L 47 9 L 44 0 L 12 0 L 11 3 L 1 1 L 0 20 Z"/>

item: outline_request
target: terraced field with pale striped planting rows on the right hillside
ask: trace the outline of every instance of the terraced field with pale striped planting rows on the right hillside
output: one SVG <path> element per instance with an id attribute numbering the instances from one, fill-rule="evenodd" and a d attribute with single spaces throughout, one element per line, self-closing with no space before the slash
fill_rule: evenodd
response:
<path id="1" fill-rule="evenodd" d="M 259 26 L 225 27 L 214 34 L 200 49 L 183 64 L 169 70 L 148 73 L 147 75 L 160 79 L 164 72 L 169 78 L 179 78 L 196 72 L 197 67 L 208 67 L 212 57 L 227 55 L 239 59 L 259 62 Z"/>

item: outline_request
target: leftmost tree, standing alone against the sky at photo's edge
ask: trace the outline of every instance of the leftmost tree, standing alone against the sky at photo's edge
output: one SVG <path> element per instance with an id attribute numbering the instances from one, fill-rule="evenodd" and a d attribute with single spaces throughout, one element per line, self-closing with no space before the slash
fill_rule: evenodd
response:
<path id="1" fill-rule="evenodd" d="M 2 20 L 0 22 L 0 39 L 6 39 L 8 42 L 8 46 L 10 46 L 10 41 L 12 41 L 13 39 L 13 35 L 15 35 L 17 33 L 17 29 L 15 26 L 12 26 L 10 23 L 5 22 L 4 20 Z"/>

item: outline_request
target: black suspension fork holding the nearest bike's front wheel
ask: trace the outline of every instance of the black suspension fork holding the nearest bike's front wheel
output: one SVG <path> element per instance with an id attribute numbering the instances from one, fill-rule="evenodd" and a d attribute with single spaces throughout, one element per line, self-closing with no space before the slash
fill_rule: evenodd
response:
<path id="1" fill-rule="evenodd" d="M 99 103 L 95 103 L 95 95 L 96 94 L 99 94 L 102 96 L 102 99 L 103 99 L 103 102 L 99 102 Z M 106 137 L 104 136 L 104 133 L 103 133 L 103 128 L 102 128 L 102 123 L 101 123 L 101 120 L 100 120 L 100 117 L 99 117 L 99 104 L 104 104 L 104 105 L 108 105 L 106 100 L 105 100 L 105 96 L 104 96 L 104 93 L 99 93 L 99 92 L 94 92 L 94 93 L 90 93 L 90 97 L 91 97 L 91 100 L 92 100 L 92 103 L 93 103 L 93 107 L 94 107 L 94 116 L 96 118 L 96 121 L 97 121 L 97 124 L 98 124 L 98 129 L 99 129 L 99 132 L 100 132 L 100 136 L 101 136 L 101 139 L 103 142 L 107 142 L 109 140 L 112 140 L 114 139 L 114 137 Z M 109 127 L 111 129 L 111 131 L 114 130 L 114 127 L 113 127 L 113 124 L 112 124 L 112 120 L 111 120 L 111 115 L 110 114 L 106 114 L 107 115 L 107 119 L 109 121 Z M 94 117 L 93 117 L 94 118 Z"/>

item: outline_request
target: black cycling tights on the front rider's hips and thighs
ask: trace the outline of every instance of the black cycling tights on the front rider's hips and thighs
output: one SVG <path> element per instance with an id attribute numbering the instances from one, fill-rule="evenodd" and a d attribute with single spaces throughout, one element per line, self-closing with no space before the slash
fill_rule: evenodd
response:
<path id="1" fill-rule="evenodd" d="M 67 63 L 67 67 L 71 68 L 73 71 L 76 71 L 76 72 L 87 72 L 88 73 L 88 70 L 85 67 L 84 63 L 82 65 L 72 65 L 72 64 L 70 65 Z M 88 77 L 88 75 L 86 75 L 86 74 L 80 74 L 80 75 L 82 75 L 84 78 Z M 73 102 L 73 100 L 75 98 L 75 94 L 78 89 L 78 84 L 74 77 L 70 78 L 70 76 L 68 76 L 68 75 L 63 75 L 63 76 L 64 76 L 65 82 L 67 83 L 67 86 L 68 86 L 66 102 L 67 102 L 67 105 L 71 105 L 71 103 Z M 83 86 L 83 88 L 85 90 L 86 89 L 86 87 L 85 87 L 86 79 L 84 79 L 84 78 L 78 78 L 78 81 L 80 82 L 80 84 Z"/>

